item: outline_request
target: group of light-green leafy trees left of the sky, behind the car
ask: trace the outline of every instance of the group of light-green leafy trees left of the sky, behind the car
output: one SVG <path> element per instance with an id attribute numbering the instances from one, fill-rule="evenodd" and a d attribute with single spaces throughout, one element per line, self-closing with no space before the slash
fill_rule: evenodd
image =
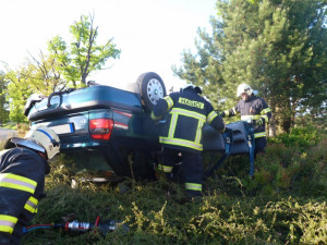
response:
<path id="1" fill-rule="evenodd" d="M 93 22 L 93 16 L 82 15 L 80 22 L 71 26 L 73 40 L 70 47 L 57 36 L 48 44 L 49 54 L 43 51 L 37 58 L 31 54 L 17 70 L 8 69 L 5 81 L 9 82 L 12 121 L 19 123 L 26 120 L 24 106 L 32 94 L 49 96 L 69 86 L 85 86 L 90 72 L 100 70 L 110 57 L 119 56 L 120 50 L 111 39 L 106 45 L 96 44 L 98 27 L 94 27 Z"/>

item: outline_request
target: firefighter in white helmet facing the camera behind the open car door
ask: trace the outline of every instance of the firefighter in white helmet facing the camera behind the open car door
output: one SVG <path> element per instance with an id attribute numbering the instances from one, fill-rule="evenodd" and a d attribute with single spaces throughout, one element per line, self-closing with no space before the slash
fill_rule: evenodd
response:
<path id="1" fill-rule="evenodd" d="M 271 110 L 266 101 L 253 94 L 253 89 L 247 84 L 240 84 L 237 97 L 241 97 L 235 107 L 230 110 L 218 112 L 222 118 L 241 114 L 241 120 L 254 125 L 255 155 L 265 151 L 267 145 L 266 123 L 271 118 Z"/>

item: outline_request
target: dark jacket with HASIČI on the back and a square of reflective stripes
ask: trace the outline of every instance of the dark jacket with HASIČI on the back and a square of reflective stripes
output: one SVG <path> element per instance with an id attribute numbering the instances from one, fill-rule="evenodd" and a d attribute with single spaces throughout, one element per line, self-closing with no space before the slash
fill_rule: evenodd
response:
<path id="1" fill-rule="evenodd" d="M 218 131 L 225 131 L 225 123 L 213 106 L 193 90 L 172 93 L 160 99 L 152 112 L 152 119 L 161 119 L 167 113 L 159 137 L 167 147 L 201 152 L 202 128 L 206 122 Z"/>

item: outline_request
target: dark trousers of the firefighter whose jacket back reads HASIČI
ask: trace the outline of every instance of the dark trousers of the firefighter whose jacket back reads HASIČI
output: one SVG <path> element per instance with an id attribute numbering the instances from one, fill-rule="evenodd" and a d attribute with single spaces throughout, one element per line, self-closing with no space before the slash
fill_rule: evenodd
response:
<path id="1" fill-rule="evenodd" d="M 184 173 L 186 194 L 191 197 L 201 196 L 203 164 L 202 164 L 202 156 L 199 154 L 192 154 L 189 151 L 181 151 L 181 150 L 164 147 L 162 164 L 173 168 L 174 164 L 178 162 L 180 152 L 182 154 L 182 168 Z"/>

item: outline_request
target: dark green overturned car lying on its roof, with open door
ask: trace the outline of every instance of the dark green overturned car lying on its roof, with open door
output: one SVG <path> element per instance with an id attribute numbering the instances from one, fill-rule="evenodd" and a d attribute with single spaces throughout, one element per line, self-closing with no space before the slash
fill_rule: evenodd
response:
<path id="1" fill-rule="evenodd" d="M 160 154 L 159 131 L 165 122 L 152 121 L 150 111 L 166 94 L 161 77 L 148 72 L 126 89 L 89 84 L 46 98 L 31 97 L 25 115 L 32 127 L 43 124 L 55 130 L 61 152 L 72 156 L 77 164 L 92 169 L 109 166 L 118 176 L 153 179 Z M 204 150 L 225 156 L 250 152 L 243 122 L 228 128 L 220 134 L 205 125 Z M 241 132 L 241 142 L 233 142 L 233 132 Z"/>

